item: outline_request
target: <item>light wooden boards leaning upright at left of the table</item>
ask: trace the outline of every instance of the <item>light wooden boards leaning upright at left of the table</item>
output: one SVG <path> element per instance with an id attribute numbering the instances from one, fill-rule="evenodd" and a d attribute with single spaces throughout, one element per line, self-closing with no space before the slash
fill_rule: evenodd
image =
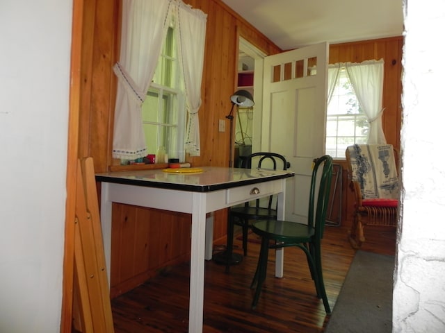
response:
<path id="1" fill-rule="evenodd" d="M 73 327 L 84 333 L 113 333 L 92 157 L 78 160 L 76 185 Z"/>

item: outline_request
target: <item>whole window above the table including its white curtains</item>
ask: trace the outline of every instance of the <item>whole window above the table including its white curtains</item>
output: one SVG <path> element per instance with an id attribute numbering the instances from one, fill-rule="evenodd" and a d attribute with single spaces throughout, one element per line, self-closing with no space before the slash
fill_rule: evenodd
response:
<path id="1" fill-rule="evenodd" d="M 199 156 L 207 14 L 181 1 L 158 0 L 123 1 L 122 14 L 120 60 L 113 66 L 113 159 L 140 162 L 161 145 L 179 160 L 184 151 Z"/>

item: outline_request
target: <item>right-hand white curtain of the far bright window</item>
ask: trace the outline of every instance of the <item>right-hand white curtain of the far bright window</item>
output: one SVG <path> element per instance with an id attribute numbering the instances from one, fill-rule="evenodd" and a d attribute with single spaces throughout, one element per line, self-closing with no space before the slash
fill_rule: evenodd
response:
<path id="1" fill-rule="evenodd" d="M 368 144 L 386 144 L 382 128 L 383 60 L 346 64 L 357 99 L 369 121 Z"/>

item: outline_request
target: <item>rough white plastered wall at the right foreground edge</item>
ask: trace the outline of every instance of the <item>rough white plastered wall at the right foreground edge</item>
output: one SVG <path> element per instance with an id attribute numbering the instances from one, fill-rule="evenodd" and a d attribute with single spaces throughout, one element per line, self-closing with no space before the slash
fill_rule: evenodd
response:
<path id="1" fill-rule="evenodd" d="M 404 2 L 404 195 L 393 332 L 445 332 L 445 2 Z"/>

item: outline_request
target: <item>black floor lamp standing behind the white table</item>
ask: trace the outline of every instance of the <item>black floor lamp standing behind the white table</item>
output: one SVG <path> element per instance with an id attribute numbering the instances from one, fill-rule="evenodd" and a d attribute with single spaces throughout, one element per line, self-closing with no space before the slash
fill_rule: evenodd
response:
<path id="1" fill-rule="evenodd" d="M 232 149 L 234 147 L 234 106 L 237 105 L 237 108 L 242 106 L 244 108 L 250 108 L 254 105 L 253 97 L 250 92 L 247 90 L 238 90 L 231 97 L 230 101 L 232 101 L 232 108 L 230 109 L 230 113 L 225 116 L 230 120 L 230 147 L 229 147 L 229 167 L 233 167 L 233 152 Z M 220 253 L 216 253 L 213 255 L 213 261 L 217 264 L 224 265 L 235 265 L 239 264 L 243 261 L 243 256 L 238 253 L 233 253 L 234 246 L 234 228 L 229 221 L 227 221 L 227 247 L 226 250 Z M 230 250 L 229 250 L 230 249 Z"/>

